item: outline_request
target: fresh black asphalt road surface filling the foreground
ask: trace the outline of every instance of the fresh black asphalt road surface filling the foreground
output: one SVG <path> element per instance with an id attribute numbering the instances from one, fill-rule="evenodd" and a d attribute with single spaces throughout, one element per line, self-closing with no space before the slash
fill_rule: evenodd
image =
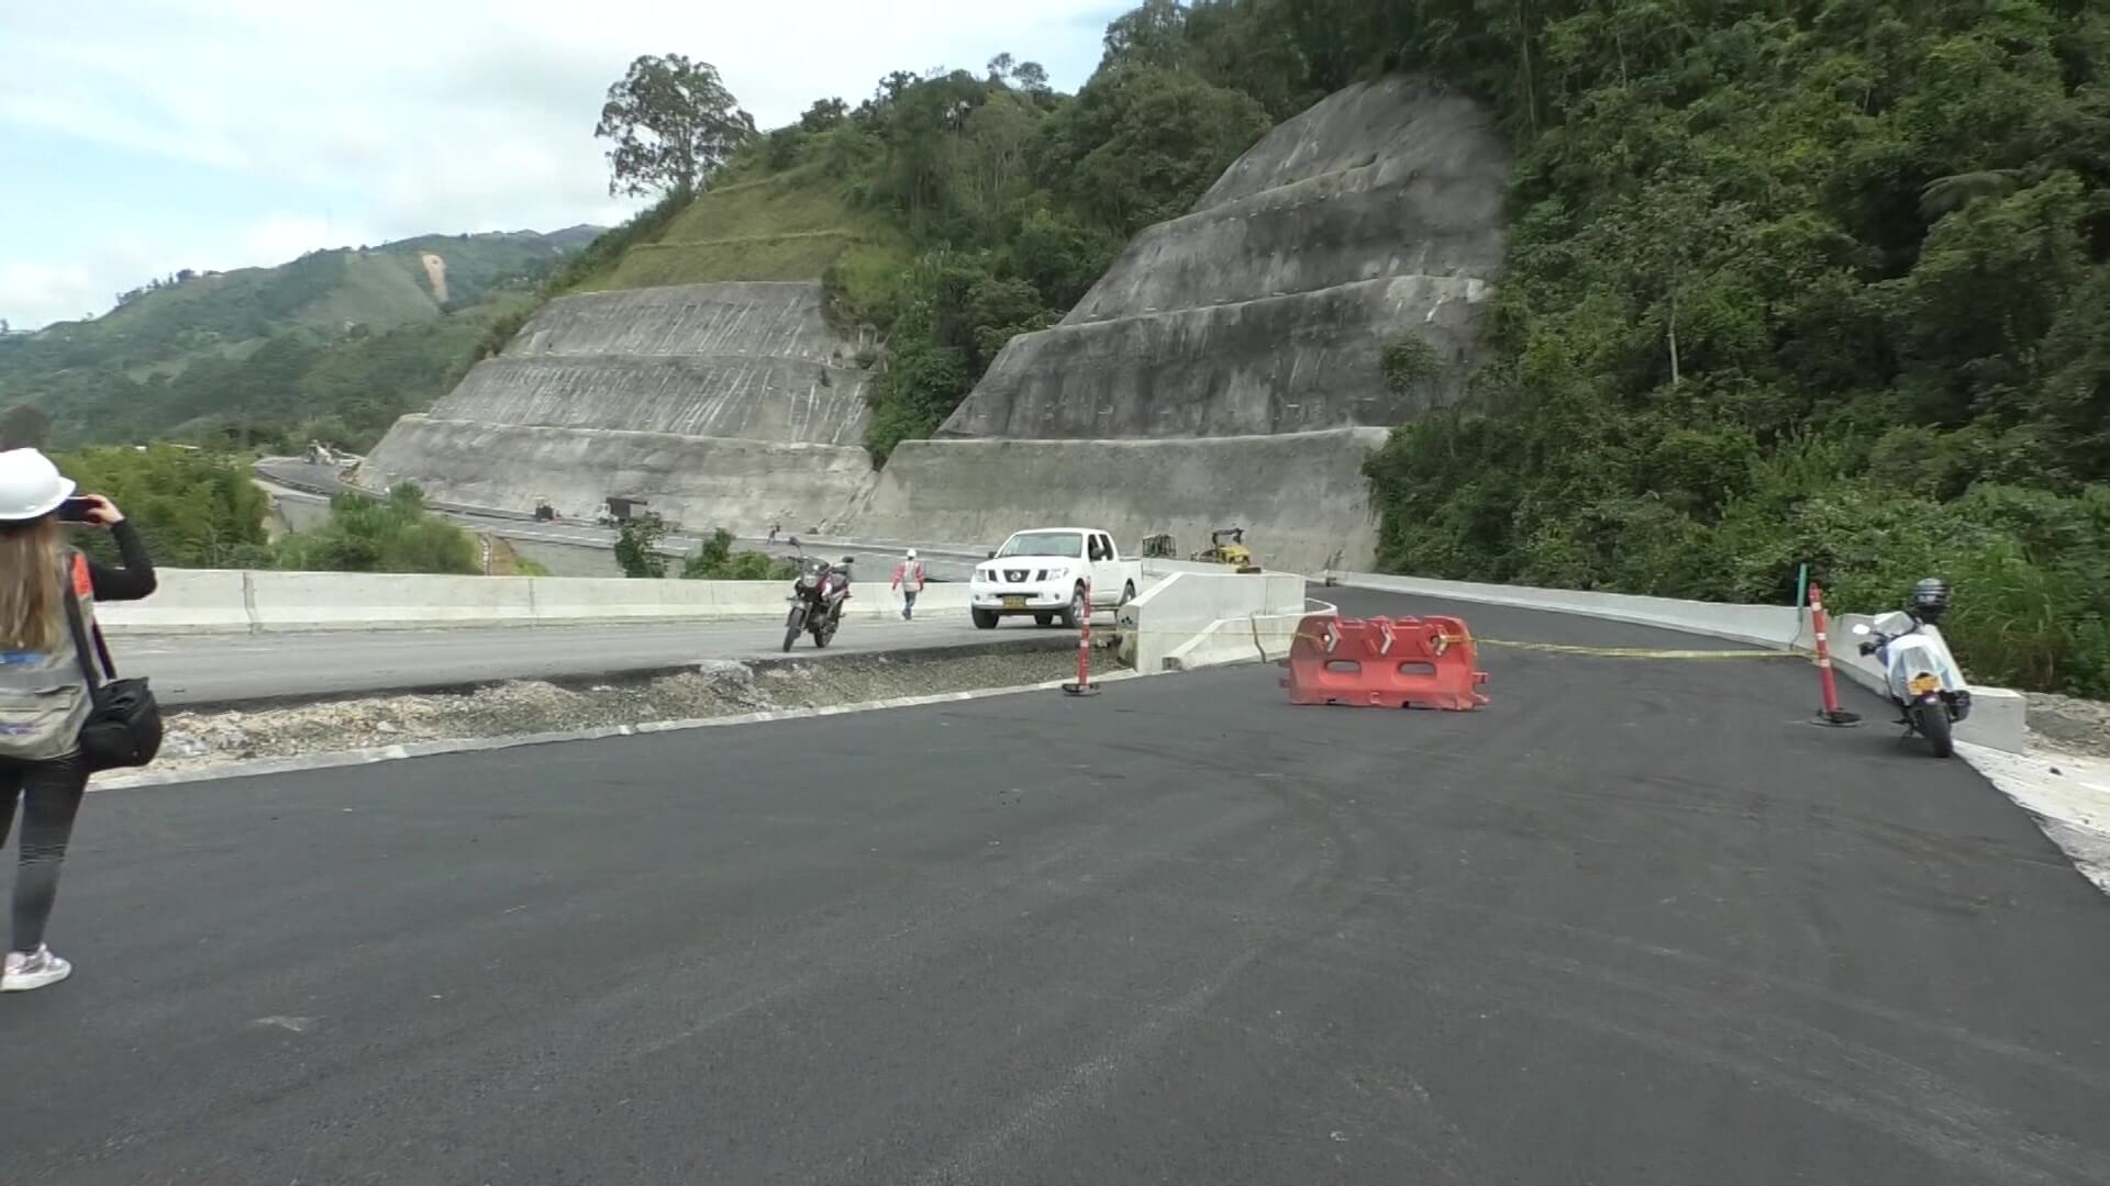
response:
<path id="1" fill-rule="evenodd" d="M 2110 905 L 2019 808 L 1806 665 L 1483 667 L 91 796 L 4 1180 L 2110 1182 Z"/>

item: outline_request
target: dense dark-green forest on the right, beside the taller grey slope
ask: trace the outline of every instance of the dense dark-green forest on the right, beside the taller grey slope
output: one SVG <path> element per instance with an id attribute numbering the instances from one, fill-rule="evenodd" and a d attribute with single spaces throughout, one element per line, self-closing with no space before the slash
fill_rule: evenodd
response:
<path id="1" fill-rule="evenodd" d="M 1443 8 L 1376 44 L 1519 146 L 1494 363 L 1372 464 L 1388 568 L 1789 601 L 1810 561 L 1859 610 L 1943 574 L 1975 677 L 2110 692 L 2099 6 L 1348 8 Z"/>

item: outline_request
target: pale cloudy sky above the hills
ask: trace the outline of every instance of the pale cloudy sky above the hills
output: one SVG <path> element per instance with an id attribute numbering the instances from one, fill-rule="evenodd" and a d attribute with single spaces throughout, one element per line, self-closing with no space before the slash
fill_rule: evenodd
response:
<path id="1" fill-rule="evenodd" d="M 0 0 L 0 317 L 177 268 L 614 224 L 601 97 L 711 61 L 762 127 L 998 53 L 1076 89 L 1123 0 Z M 654 11 L 658 8 L 658 11 Z"/>

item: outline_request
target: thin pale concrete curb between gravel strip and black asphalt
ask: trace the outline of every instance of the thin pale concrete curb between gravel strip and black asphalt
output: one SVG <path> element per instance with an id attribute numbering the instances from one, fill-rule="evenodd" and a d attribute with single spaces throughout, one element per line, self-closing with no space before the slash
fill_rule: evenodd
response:
<path id="1" fill-rule="evenodd" d="M 1142 677 L 1139 671 L 1114 671 L 1101 677 L 1093 677 L 1093 684 L 1120 684 L 1127 680 Z M 169 770 L 169 772 L 141 772 L 141 774 L 110 774 L 89 781 L 91 791 L 129 791 L 141 787 L 171 787 L 177 783 L 211 783 L 219 779 L 255 779 L 266 774 L 300 774 L 308 770 L 335 770 L 344 766 L 371 766 L 376 762 L 401 762 L 407 758 L 437 758 L 445 753 L 481 753 L 490 749 L 517 749 L 523 745 L 555 745 L 563 741 L 603 741 L 610 737 L 639 737 L 650 732 L 686 732 L 696 728 L 720 728 L 734 724 L 768 724 L 783 720 L 808 720 L 808 718 L 833 718 L 846 713 L 869 713 L 882 709 L 916 709 L 926 705 L 952 705 L 960 701 L 979 701 L 987 696 L 1015 696 L 1021 692 L 1053 692 L 1059 690 L 1068 680 L 1049 680 L 1042 684 L 1015 684 L 1009 688 L 973 688 L 966 692 L 937 692 L 928 696 L 893 696 L 886 701 L 861 701 L 855 705 L 827 705 L 819 709 L 770 709 L 760 713 L 738 713 L 728 718 L 694 718 L 694 720 L 671 720 L 671 722 L 646 722 L 646 724 L 618 724 L 601 728 L 574 728 L 559 732 L 521 732 L 509 737 L 468 737 L 452 741 L 405 741 L 401 745 L 384 745 L 373 749 L 344 749 L 335 753 L 308 753 L 300 758 L 257 758 L 251 762 L 222 762 L 217 766 L 198 766 L 192 770 Z"/>

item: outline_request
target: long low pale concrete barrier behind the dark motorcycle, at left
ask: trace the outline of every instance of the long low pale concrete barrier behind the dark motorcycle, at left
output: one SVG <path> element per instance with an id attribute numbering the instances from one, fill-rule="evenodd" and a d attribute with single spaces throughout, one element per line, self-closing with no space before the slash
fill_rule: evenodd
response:
<path id="1" fill-rule="evenodd" d="M 110 633 L 283 633 L 625 620 L 774 618 L 785 580 L 625 580 L 363 572 L 160 570 L 146 601 L 97 608 Z M 931 585 L 920 612 L 966 616 L 964 585 Z M 850 587 L 852 616 L 901 612 L 884 580 Z"/>

